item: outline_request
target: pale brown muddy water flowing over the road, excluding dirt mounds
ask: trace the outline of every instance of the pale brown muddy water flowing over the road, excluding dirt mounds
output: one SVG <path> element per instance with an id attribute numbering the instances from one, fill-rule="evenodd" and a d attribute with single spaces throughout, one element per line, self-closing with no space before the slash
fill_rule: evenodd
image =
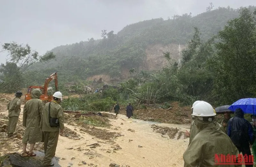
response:
<path id="1" fill-rule="evenodd" d="M 19 117 L 21 121 L 22 113 Z M 117 118 L 117 120 L 110 120 L 112 127 L 101 128 L 123 135 L 113 139 L 112 142 L 97 139 L 81 132 L 80 127 L 65 124 L 66 127 L 76 131 L 81 138 L 72 140 L 64 136 L 59 137 L 55 155 L 60 158 L 59 164 L 63 167 L 78 167 L 84 161 L 87 164 L 94 164 L 92 166 L 97 165 L 97 167 L 106 167 L 110 163 L 120 166 L 129 165 L 130 167 L 183 166 L 182 155 L 188 147 L 189 139 L 181 137 L 177 140 L 176 138 L 169 139 L 167 136 L 162 137 L 161 134 L 153 132 L 150 125 L 177 127 L 180 128 L 180 131 L 189 130 L 188 126 L 128 119 L 124 115 L 118 115 Z M 132 129 L 134 132 L 128 131 L 128 129 Z M 96 148 L 86 146 L 93 143 L 98 143 L 99 146 Z M 117 144 L 119 147 L 116 146 Z M 138 147 L 139 145 L 142 147 Z M 114 150 L 116 147 L 122 149 Z"/>

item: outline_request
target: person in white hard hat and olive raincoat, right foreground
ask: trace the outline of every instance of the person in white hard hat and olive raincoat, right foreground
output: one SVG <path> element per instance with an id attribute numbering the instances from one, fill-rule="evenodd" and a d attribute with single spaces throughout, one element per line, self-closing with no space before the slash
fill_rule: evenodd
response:
<path id="1" fill-rule="evenodd" d="M 221 166 L 217 165 L 214 157 L 222 154 L 236 155 L 238 160 L 239 151 L 232 143 L 230 138 L 219 126 L 214 123 L 215 110 L 207 102 L 200 101 L 193 107 L 195 125 L 198 128 L 198 134 L 193 138 L 187 150 L 183 154 L 184 167 L 191 166 Z M 242 165 L 229 164 L 235 167 Z"/>

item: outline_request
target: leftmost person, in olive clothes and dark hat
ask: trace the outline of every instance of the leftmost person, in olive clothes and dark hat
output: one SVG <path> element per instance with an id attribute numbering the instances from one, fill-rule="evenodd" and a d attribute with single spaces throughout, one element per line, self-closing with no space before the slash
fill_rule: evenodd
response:
<path id="1" fill-rule="evenodd" d="M 7 137 L 13 136 L 15 132 L 19 116 L 20 116 L 20 97 L 22 96 L 21 91 L 17 91 L 15 94 L 15 98 L 12 99 L 7 105 L 8 110 L 8 128 L 7 128 Z"/>

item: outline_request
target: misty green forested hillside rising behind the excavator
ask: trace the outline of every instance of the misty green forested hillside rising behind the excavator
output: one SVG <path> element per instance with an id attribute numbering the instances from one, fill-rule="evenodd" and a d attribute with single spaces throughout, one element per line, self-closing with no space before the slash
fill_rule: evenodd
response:
<path id="1" fill-rule="evenodd" d="M 206 41 L 222 30 L 228 20 L 238 17 L 238 11 L 219 7 L 194 17 L 183 14 L 167 20 L 141 21 L 125 26 L 117 34 L 102 30 L 101 40 L 91 38 L 53 48 L 51 52 L 56 54 L 56 60 L 35 63 L 28 74 L 35 76 L 35 84 L 43 83 L 55 71 L 63 82 L 78 82 L 99 74 L 122 78 L 121 69 L 143 69 L 148 47 L 156 44 L 185 45 L 192 38 L 194 27 L 199 29 L 201 41 Z"/>

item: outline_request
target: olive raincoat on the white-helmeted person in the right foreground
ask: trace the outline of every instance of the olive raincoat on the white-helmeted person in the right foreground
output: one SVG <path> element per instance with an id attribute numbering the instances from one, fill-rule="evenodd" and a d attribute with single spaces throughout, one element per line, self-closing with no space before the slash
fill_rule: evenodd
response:
<path id="1" fill-rule="evenodd" d="M 230 138 L 212 122 L 204 122 L 195 117 L 195 124 L 199 133 L 196 134 L 187 150 L 183 154 L 184 167 L 213 167 L 216 154 L 238 155 L 238 149 Z M 231 167 L 242 165 L 228 165 Z"/>

